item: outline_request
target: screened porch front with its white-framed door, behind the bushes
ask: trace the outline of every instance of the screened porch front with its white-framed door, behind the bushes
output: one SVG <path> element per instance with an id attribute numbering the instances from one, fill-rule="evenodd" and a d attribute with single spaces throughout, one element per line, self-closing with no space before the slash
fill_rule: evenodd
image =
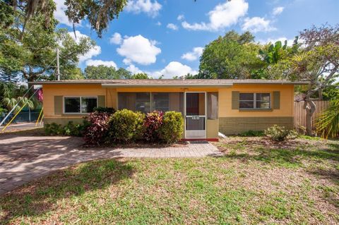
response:
<path id="1" fill-rule="evenodd" d="M 118 109 L 179 111 L 186 138 L 206 138 L 207 120 L 218 119 L 218 92 L 118 92 Z"/>

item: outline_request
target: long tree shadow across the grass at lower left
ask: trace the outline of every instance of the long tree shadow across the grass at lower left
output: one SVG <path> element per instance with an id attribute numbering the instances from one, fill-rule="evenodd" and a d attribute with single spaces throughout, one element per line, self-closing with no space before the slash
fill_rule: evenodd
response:
<path id="1" fill-rule="evenodd" d="M 59 171 L 0 198 L 0 224 L 34 217 L 54 209 L 58 200 L 81 196 L 130 178 L 134 169 L 120 159 L 93 161 Z"/>

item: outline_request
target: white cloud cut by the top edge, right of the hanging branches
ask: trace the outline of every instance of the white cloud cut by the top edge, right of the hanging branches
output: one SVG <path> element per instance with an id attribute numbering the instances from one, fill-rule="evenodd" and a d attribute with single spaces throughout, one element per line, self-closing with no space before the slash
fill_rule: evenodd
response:
<path id="1" fill-rule="evenodd" d="M 148 16 L 155 17 L 162 8 L 156 0 L 130 0 L 125 7 L 126 11 L 133 13 L 147 13 Z"/>

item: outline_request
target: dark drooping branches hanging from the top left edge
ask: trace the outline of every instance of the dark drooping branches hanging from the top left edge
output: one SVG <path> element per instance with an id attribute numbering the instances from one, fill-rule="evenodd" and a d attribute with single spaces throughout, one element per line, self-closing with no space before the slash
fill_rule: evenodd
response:
<path id="1" fill-rule="evenodd" d="M 66 0 L 66 16 L 73 23 L 80 23 L 87 19 L 91 28 L 101 37 L 102 31 L 107 29 L 109 22 L 119 16 L 119 13 L 126 6 L 128 0 Z M 20 28 L 20 37 L 25 34 L 25 25 L 37 15 L 42 16 L 42 20 L 49 25 L 49 20 L 55 11 L 55 4 L 52 0 L 4 0 L 0 1 L 1 8 L 6 7 L 6 11 L 0 13 L 0 19 L 4 18 L 6 25 L 14 23 L 13 12 L 18 11 L 24 18 L 23 26 Z"/>

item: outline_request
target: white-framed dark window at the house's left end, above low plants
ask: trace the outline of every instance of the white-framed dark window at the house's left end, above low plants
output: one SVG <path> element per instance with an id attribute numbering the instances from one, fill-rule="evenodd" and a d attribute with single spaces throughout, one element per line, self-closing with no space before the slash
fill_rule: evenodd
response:
<path id="1" fill-rule="evenodd" d="M 85 114 L 97 107 L 97 97 L 64 97 L 65 114 Z"/>

